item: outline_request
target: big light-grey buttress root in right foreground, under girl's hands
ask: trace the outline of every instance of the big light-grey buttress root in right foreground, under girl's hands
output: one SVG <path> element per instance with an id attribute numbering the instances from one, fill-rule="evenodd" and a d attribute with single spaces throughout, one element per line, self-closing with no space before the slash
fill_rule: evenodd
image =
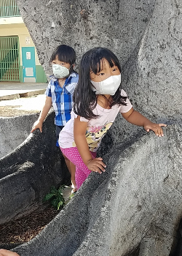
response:
<path id="1" fill-rule="evenodd" d="M 167 256 L 182 215 L 181 126 L 140 134 L 103 157 L 71 202 L 20 256 Z M 176 255 L 175 255 L 176 256 Z"/>

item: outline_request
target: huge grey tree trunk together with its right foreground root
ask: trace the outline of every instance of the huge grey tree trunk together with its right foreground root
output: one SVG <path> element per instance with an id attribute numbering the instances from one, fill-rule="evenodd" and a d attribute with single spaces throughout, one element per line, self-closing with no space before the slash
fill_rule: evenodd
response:
<path id="1" fill-rule="evenodd" d="M 105 46 L 119 56 L 123 88 L 134 108 L 175 125 L 165 138 L 156 138 L 118 118 L 100 148 L 107 172 L 92 173 L 65 210 L 15 251 L 122 256 L 140 246 L 140 256 L 170 255 L 182 216 L 182 2 L 17 2 L 47 74 L 57 45 L 74 47 L 78 60 L 89 48 Z"/>

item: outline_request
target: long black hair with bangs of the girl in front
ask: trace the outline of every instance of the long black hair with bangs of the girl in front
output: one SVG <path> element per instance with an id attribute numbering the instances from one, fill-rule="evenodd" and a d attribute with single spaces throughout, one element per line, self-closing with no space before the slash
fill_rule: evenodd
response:
<path id="1" fill-rule="evenodd" d="M 119 60 L 111 50 L 107 48 L 93 48 L 84 53 L 79 64 L 79 82 L 74 91 L 74 112 L 87 119 L 97 118 L 92 110 L 97 105 L 97 95 L 92 91 L 92 83 L 90 82 L 90 71 L 97 74 L 100 72 L 102 63 L 101 61 L 106 59 L 110 67 L 116 65 L 121 72 L 121 66 Z M 121 96 L 121 85 L 117 89 L 116 93 L 112 96 L 112 103 L 110 107 L 114 105 L 126 105 L 125 101 L 127 97 Z"/>

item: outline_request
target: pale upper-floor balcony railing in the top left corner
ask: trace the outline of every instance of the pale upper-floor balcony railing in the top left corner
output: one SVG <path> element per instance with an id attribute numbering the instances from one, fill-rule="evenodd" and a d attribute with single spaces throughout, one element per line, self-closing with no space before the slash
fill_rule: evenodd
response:
<path id="1" fill-rule="evenodd" d="M 16 0 L 0 0 L 0 18 L 20 16 Z"/>

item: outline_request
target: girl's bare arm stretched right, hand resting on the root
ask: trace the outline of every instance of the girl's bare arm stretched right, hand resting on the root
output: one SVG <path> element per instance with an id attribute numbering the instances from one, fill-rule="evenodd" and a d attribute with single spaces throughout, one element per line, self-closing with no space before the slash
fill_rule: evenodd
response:
<path id="1" fill-rule="evenodd" d="M 152 131 L 155 132 L 157 136 L 164 136 L 161 127 L 166 127 L 166 124 L 152 123 L 149 119 L 147 119 L 145 116 L 142 116 L 141 113 L 135 111 L 133 108 L 131 108 L 127 113 L 122 113 L 122 116 L 131 124 L 143 127 L 146 130 L 146 132 L 149 132 L 149 130 L 151 129 Z"/>

